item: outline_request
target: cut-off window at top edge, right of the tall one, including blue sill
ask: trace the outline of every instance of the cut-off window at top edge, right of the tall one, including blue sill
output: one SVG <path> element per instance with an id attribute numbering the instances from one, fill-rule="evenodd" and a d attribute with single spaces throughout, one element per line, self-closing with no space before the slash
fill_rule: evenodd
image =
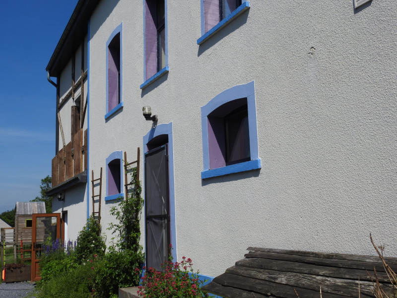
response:
<path id="1" fill-rule="evenodd" d="M 203 43 L 211 34 L 226 23 L 250 8 L 245 0 L 201 0 L 201 37 L 197 44 Z"/>

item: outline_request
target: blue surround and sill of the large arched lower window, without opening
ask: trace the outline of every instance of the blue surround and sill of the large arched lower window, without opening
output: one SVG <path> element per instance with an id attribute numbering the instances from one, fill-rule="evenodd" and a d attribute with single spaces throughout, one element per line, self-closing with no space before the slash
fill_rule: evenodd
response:
<path id="1" fill-rule="evenodd" d="M 247 98 L 251 160 L 216 169 L 209 169 L 208 121 L 207 121 L 208 115 L 213 110 L 220 107 L 221 105 L 239 98 Z M 255 104 L 254 81 L 226 89 L 223 92 L 216 95 L 214 98 L 212 98 L 206 105 L 202 106 L 201 131 L 202 131 L 202 158 L 203 158 L 203 167 L 204 167 L 204 170 L 201 172 L 201 179 L 261 168 L 261 159 L 258 157 L 257 108 Z"/>

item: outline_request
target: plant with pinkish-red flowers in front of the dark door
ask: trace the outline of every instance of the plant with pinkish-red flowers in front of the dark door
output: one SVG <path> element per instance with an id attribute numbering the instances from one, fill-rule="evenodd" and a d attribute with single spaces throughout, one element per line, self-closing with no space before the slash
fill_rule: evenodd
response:
<path id="1" fill-rule="evenodd" d="M 143 298 L 199 298 L 209 297 L 201 291 L 204 283 L 199 272 L 194 272 L 192 259 L 182 257 L 181 262 L 172 262 L 172 257 L 161 264 L 164 271 L 148 268 L 142 277 L 137 294 Z"/>

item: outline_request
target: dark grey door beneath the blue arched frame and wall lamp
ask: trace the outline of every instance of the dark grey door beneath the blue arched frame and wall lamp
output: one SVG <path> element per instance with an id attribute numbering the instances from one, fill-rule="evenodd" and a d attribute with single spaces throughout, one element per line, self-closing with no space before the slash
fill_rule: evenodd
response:
<path id="1" fill-rule="evenodd" d="M 170 244 L 167 145 L 145 153 L 146 267 L 161 271 Z"/>

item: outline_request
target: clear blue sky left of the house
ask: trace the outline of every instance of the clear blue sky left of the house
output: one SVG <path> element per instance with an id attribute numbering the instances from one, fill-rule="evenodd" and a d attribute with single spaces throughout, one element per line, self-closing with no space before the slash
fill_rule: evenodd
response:
<path id="1" fill-rule="evenodd" d="M 0 213 L 40 195 L 55 156 L 45 68 L 77 0 L 0 0 Z"/>

